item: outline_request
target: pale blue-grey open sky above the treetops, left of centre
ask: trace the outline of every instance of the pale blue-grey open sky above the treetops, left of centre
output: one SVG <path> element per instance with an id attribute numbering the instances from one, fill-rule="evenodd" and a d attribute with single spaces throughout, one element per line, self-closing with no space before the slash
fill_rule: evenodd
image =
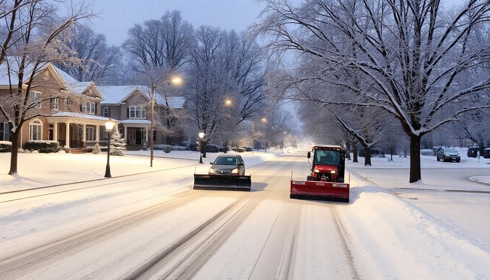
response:
<path id="1" fill-rule="evenodd" d="M 93 27 L 107 37 L 109 45 L 121 45 L 135 23 L 180 10 L 182 18 L 195 27 L 209 24 L 242 31 L 256 20 L 263 7 L 254 0 L 97 0 L 93 9 L 101 15 L 93 20 Z"/>

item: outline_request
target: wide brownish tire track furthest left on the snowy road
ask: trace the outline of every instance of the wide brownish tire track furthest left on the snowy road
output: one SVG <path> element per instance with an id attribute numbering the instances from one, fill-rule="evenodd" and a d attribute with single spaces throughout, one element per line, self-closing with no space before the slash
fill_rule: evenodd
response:
<path id="1" fill-rule="evenodd" d="M 119 233 L 123 233 L 127 227 L 135 227 L 139 224 L 143 224 L 149 219 L 174 208 L 181 207 L 191 201 L 192 198 L 165 201 L 146 209 L 124 215 L 111 222 L 86 229 L 83 232 L 51 241 L 28 251 L 17 253 L 13 256 L 3 257 L 0 259 L 0 278 L 7 279 L 7 276 L 10 277 L 10 274 L 14 275 L 13 278 L 17 278 L 15 275 L 22 276 L 22 271 L 25 268 L 31 268 L 35 265 L 44 267 L 50 262 L 56 261 L 56 259 L 54 259 L 55 257 L 60 258 L 60 255 L 63 254 L 73 255 L 76 252 L 83 250 L 88 244 L 94 245 L 103 242 L 104 238 L 102 237 L 107 237 L 108 235 L 115 236 Z"/>

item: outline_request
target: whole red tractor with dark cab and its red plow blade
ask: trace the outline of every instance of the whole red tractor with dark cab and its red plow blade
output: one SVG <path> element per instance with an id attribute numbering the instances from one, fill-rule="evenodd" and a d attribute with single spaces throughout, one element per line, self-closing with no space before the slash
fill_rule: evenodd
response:
<path id="1" fill-rule="evenodd" d="M 308 162 L 312 158 L 308 152 Z M 345 151 L 341 146 L 313 147 L 311 175 L 306 181 L 291 178 L 290 198 L 349 202 L 349 184 L 344 183 Z"/>

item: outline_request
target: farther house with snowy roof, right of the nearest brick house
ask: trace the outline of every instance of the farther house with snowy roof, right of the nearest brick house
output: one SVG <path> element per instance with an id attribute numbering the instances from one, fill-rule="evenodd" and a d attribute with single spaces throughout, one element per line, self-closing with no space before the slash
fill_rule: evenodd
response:
<path id="1" fill-rule="evenodd" d="M 103 101 L 100 103 L 100 116 L 119 119 L 119 130 L 129 147 L 135 148 L 149 146 L 149 131 L 151 124 L 151 99 L 145 86 L 99 86 Z M 172 110 L 183 110 L 184 97 L 168 97 L 165 100 L 161 95 L 155 95 L 155 130 L 153 141 L 155 144 L 167 143 L 167 136 L 158 129 L 165 124 L 160 123 L 162 112 L 168 106 Z M 160 118 L 162 117 L 162 118 Z M 183 132 L 173 136 L 171 143 L 180 143 L 186 140 Z"/>

